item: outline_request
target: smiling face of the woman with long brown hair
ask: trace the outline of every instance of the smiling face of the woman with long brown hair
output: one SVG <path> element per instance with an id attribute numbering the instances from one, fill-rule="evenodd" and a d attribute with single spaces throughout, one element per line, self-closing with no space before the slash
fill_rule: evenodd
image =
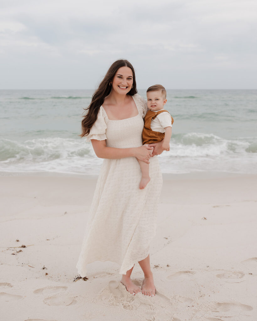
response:
<path id="1" fill-rule="evenodd" d="M 129 67 L 120 67 L 112 80 L 112 90 L 127 94 L 133 85 L 133 73 Z"/>

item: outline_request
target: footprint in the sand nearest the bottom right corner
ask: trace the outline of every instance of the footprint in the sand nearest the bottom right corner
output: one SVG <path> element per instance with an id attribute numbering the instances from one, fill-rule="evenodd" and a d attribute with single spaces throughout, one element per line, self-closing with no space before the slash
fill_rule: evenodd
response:
<path id="1" fill-rule="evenodd" d="M 252 311 L 253 307 L 250 305 L 234 302 L 218 302 L 215 303 L 215 309 L 212 311 L 210 317 L 237 317 L 239 315 L 250 316 L 249 311 Z"/>

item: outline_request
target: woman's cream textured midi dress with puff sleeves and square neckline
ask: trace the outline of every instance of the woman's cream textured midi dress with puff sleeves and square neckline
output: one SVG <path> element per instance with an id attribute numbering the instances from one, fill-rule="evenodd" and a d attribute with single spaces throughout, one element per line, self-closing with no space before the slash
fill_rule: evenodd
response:
<path id="1" fill-rule="evenodd" d="M 140 95 L 132 97 L 137 116 L 109 120 L 101 106 L 87 141 L 106 140 L 108 147 L 115 148 L 141 146 L 147 105 Z M 76 265 L 80 276 L 86 276 L 86 265 L 94 261 L 116 262 L 119 273 L 126 274 L 148 256 L 163 183 L 157 156 L 150 158 L 149 173 L 150 182 L 140 190 L 136 157 L 103 160 Z"/>

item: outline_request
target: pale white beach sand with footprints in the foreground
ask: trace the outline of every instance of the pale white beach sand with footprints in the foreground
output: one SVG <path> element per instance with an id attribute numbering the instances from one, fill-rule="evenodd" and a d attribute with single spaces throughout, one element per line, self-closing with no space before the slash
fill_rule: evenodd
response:
<path id="1" fill-rule="evenodd" d="M 73 282 L 95 184 L 0 178 L 1 320 L 257 320 L 257 176 L 165 175 L 153 298 L 130 295 L 112 262 L 88 265 L 88 281 Z M 138 264 L 132 277 L 141 285 Z"/>

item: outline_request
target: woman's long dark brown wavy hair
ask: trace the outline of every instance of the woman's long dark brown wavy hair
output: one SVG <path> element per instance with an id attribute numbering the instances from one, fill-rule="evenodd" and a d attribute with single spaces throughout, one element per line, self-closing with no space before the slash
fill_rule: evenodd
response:
<path id="1" fill-rule="evenodd" d="M 137 93 L 135 70 L 133 66 L 130 64 L 128 60 L 125 60 L 125 59 L 116 60 L 107 71 L 98 89 L 94 92 L 90 105 L 87 108 L 83 108 L 84 110 L 88 110 L 88 112 L 84 116 L 81 122 L 82 133 L 80 134 L 80 137 L 83 137 L 89 134 L 90 129 L 92 128 L 94 122 L 97 119 L 97 114 L 104 102 L 105 97 L 108 96 L 109 93 L 111 92 L 111 86 L 109 85 L 109 83 L 112 82 L 115 74 L 117 73 L 117 70 L 120 67 L 129 67 L 132 70 L 133 88 L 130 89 L 128 94 L 133 96 L 134 94 Z"/>

